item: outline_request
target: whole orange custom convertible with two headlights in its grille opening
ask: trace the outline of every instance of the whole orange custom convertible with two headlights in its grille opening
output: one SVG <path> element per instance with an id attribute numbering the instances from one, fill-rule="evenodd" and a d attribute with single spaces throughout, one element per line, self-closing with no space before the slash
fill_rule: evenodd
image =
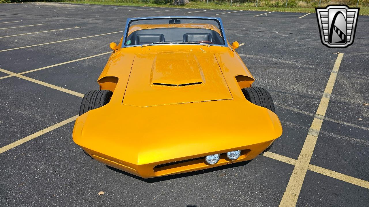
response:
<path id="1" fill-rule="evenodd" d="M 93 159 L 142 178 L 247 161 L 282 126 L 272 98 L 225 37 L 220 18 L 141 17 L 83 97 L 73 140 Z"/>

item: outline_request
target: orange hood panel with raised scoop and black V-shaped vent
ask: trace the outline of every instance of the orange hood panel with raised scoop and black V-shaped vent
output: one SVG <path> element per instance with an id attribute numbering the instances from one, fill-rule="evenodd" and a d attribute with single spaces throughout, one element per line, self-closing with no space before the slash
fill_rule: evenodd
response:
<path id="1" fill-rule="evenodd" d="M 158 106 L 232 99 L 214 53 L 135 55 L 123 104 Z"/>

